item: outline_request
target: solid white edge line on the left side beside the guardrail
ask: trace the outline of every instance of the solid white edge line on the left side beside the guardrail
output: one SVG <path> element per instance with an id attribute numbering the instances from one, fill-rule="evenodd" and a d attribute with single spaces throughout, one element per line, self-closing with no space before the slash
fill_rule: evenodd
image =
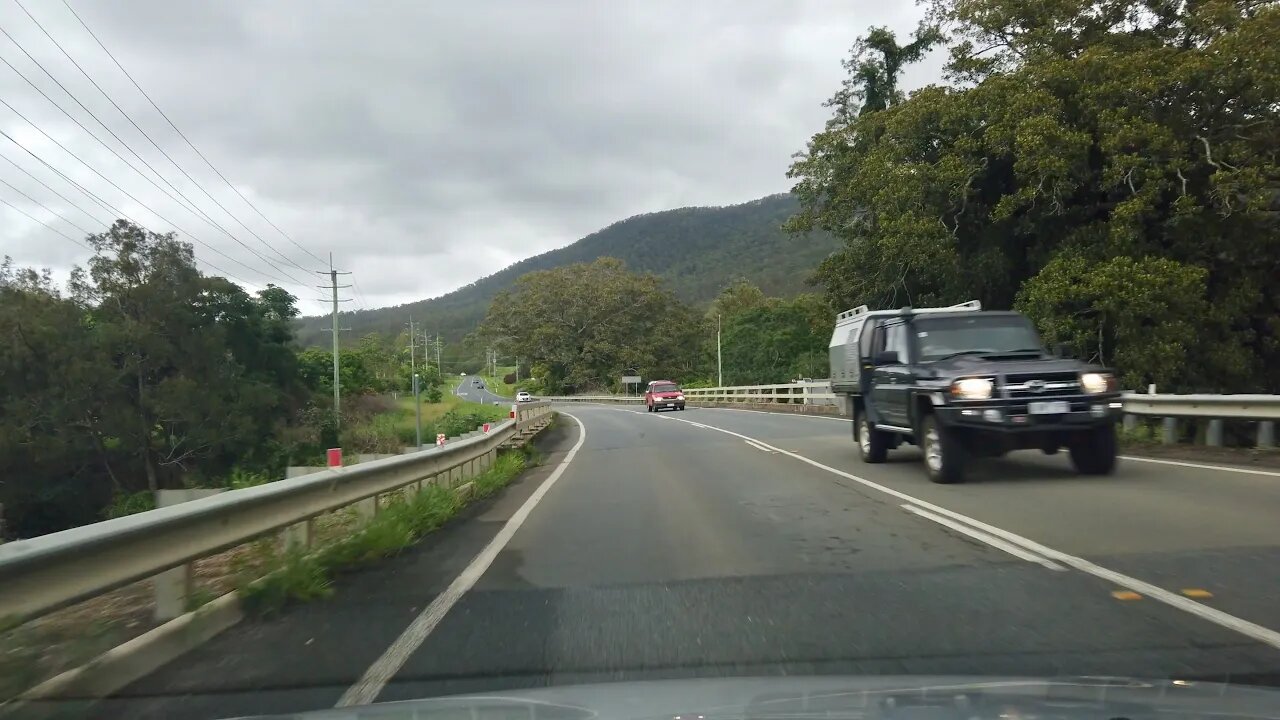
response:
<path id="1" fill-rule="evenodd" d="M 529 519 L 529 514 L 534 511 L 534 507 L 538 507 L 538 503 L 543 500 L 543 497 L 545 497 L 547 493 L 550 492 L 552 487 L 556 486 L 556 480 L 564 474 L 564 469 L 573 461 L 573 456 L 577 455 L 577 451 L 586 441 L 586 425 L 582 424 L 582 420 L 579 420 L 573 415 L 564 411 L 561 413 L 572 418 L 579 427 L 577 442 L 575 442 L 573 447 L 564 455 L 564 460 L 562 460 L 561 464 L 556 466 L 556 470 L 553 470 L 552 474 L 543 480 L 543 484 L 534 491 L 534 495 L 529 496 L 529 500 L 520 506 L 520 510 L 516 510 L 511 519 L 507 520 L 507 524 L 503 525 L 502 529 L 498 530 L 498 534 L 489 541 L 489 544 L 480 551 L 480 555 L 476 555 L 466 569 L 463 569 L 462 573 L 458 574 L 452 583 L 449 583 L 449 587 L 444 588 L 444 592 L 438 594 L 435 600 L 433 600 L 431 603 L 428 605 L 412 623 L 410 623 L 408 628 L 401 633 L 401 637 L 396 638 L 396 642 L 387 648 L 387 652 L 374 661 L 374 664 L 369 666 L 369 670 L 365 670 L 365 674 L 360 678 L 360 680 L 347 688 L 347 692 L 342 693 L 342 697 L 338 700 L 338 705 L 334 707 L 369 705 L 378 700 L 378 694 L 384 687 L 387 687 L 387 683 L 396 676 L 396 673 L 399 673 L 399 669 L 404 666 L 410 655 L 412 655 L 413 651 L 416 651 L 422 642 L 426 641 L 428 635 L 430 635 L 431 630 L 440 624 L 440 620 L 444 619 L 444 615 L 453 607 L 453 605 L 457 603 L 458 600 L 461 600 L 462 596 L 476 584 L 476 580 L 484 575 L 485 570 L 493 565 L 494 559 L 498 557 L 502 548 L 511 542 L 516 530 L 518 530 L 520 527 L 525 524 L 525 520 Z"/>

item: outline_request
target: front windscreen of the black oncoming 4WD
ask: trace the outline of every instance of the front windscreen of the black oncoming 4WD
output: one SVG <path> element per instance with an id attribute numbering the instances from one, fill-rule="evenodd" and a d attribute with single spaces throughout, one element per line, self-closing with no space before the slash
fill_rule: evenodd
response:
<path id="1" fill-rule="evenodd" d="M 1018 315 L 920 318 L 914 325 L 915 347 L 922 363 L 964 352 L 1002 355 L 1038 352 L 1042 348 L 1030 320 Z"/>

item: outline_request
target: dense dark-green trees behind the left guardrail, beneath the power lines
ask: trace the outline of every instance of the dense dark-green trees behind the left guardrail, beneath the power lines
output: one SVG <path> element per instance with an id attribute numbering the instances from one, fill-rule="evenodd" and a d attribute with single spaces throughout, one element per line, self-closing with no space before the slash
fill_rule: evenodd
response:
<path id="1" fill-rule="evenodd" d="M 332 357 L 297 354 L 294 299 L 196 269 L 192 249 L 124 220 L 86 238 L 67 291 L 0 264 L 0 506 L 29 537 L 146 509 L 154 491 L 282 477 L 371 414 L 332 413 Z M 439 375 L 419 368 L 439 397 Z M 346 397 L 403 391 L 407 342 L 342 354 Z M 401 443 L 402 445 L 402 443 Z"/>

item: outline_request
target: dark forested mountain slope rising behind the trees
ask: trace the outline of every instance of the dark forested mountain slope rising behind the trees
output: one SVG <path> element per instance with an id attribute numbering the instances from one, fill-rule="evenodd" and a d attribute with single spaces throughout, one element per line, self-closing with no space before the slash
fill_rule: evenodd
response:
<path id="1" fill-rule="evenodd" d="M 824 232 L 790 236 L 781 229 L 796 211 L 790 195 L 771 195 L 724 208 L 681 208 L 636 215 L 613 223 L 582 240 L 521 260 L 498 273 L 431 300 L 394 307 L 344 313 L 343 342 L 370 332 L 397 334 L 413 315 L 429 332 L 460 340 L 474 331 L 489 301 L 520 275 L 609 256 L 627 269 L 649 272 L 667 281 L 685 301 L 707 302 L 733 278 L 746 278 L 768 295 L 790 296 L 805 290 L 805 279 L 838 242 Z M 298 320 L 298 341 L 328 343 L 328 318 Z"/>

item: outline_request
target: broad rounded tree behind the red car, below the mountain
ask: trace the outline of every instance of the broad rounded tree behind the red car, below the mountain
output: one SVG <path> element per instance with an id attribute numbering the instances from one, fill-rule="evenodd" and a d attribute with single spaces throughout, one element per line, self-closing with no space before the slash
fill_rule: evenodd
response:
<path id="1" fill-rule="evenodd" d="M 698 322 L 650 274 L 600 258 L 529 273 L 499 293 L 479 336 L 526 359 L 547 392 L 605 387 L 636 368 L 676 377 L 696 361 Z"/>

